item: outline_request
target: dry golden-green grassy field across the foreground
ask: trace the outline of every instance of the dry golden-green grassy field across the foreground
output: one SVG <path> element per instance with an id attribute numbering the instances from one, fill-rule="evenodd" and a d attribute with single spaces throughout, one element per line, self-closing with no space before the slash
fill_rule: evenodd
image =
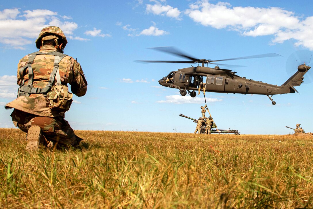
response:
<path id="1" fill-rule="evenodd" d="M 313 208 L 313 137 L 76 131 L 28 153 L 0 129 L 0 208 Z"/>

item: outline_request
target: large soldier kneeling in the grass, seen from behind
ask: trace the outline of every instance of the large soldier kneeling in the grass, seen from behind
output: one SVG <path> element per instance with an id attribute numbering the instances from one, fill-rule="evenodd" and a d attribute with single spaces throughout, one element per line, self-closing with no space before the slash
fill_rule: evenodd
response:
<path id="1" fill-rule="evenodd" d="M 63 54 L 66 44 L 59 27 L 46 27 L 36 40 L 39 51 L 24 56 L 18 63 L 18 98 L 5 108 L 14 108 L 12 121 L 27 133 L 28 151 L 39 146 L 75 146 L 82 140 L 64 120 L 64 113 L 73 96 L 67 83 L 80 97 L 86 94 L 87 81 L 80 64 Z"/>

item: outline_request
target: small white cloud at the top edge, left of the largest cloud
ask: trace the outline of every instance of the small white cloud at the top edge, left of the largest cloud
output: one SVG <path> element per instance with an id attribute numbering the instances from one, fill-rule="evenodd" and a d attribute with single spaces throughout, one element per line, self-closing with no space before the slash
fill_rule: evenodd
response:
<path id="1" fill-rule="evenodd" d="M 166 15 L 170 18 L 180 19 L 180 11 L 178 8 L 173 8 L 170 5 L 162 5 L 160 2 L 155 1 L 156 4 L 146 4 L 146 12 L 156 15 Z"/>

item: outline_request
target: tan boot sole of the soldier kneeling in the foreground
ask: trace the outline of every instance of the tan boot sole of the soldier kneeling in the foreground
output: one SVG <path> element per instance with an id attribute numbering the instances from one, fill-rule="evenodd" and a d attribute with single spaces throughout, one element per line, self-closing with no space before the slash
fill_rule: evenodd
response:
<path id="1" fill-rule="evenodd" d="M 31 126 L 27 132 L 27 151 L 36 150 L 43 142 L 43 136 L 39 126 Z"/>

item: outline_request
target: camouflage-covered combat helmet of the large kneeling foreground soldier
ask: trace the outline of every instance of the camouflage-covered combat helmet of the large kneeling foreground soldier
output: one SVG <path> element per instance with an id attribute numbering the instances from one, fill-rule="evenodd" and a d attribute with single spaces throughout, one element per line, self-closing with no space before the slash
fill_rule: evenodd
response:
<path id="1" fill-rule="evenodd" d="M 38 39 L 36 40 L 37 49 L 40 49 L 40 47 L 43 45 L 45 40 L 53 40 L 53 39 L 55 40 L 55 43 L 57 46 L 61 44 L 61 43 L 58 43 L 58 39 L 61 39 L 63 46 L 65 48 L 67 44 L 67 39 L 63 31 L 59 27 L 49 26 L 40 31 Z"/>

